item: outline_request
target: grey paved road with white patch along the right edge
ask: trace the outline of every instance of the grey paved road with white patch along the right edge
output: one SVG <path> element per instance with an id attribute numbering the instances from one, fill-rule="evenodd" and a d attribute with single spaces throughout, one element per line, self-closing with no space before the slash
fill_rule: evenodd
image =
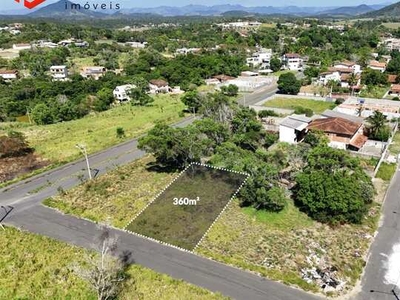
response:
<path id="1" fill-rule="evenodd" d="M 382 224 L 370 249 L 361 282 L 362 291 L 356 300 L 400 299 L 400 169 L 391 182 L 382 213 Z M 391 260 L 394 245 L 397 245 L 397 258 Z M 391 275 L 388 268 L 392 270 Z M 388 275 L 392 280 L 387 281 Z M 398 286 L 394 288 L 396 282 Z M 393 288 L 398 298 L 392 293 Z"/>

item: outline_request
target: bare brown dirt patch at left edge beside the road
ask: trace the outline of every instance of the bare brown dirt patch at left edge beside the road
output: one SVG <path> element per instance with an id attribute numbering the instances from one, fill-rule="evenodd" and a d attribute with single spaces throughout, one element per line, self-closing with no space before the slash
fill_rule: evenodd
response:
<path id="1" fill-rule="evenodd" d="M 49 165 L 34 153 L 24 156 L 0 158 L 0 183 Z"/>

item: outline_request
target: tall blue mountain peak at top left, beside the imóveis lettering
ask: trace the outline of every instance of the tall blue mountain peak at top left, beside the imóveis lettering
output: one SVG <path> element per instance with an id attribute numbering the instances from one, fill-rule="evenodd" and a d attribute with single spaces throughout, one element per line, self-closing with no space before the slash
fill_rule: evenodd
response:
<path id="1" fill-rule="evenodd" d="M 99 18 L 106 16 L 103 13 L 86 9 L 71 9 L 71 4 L 74 3 L 69 0 L 60 0 L 30 13 L 28 16 L 35 18 Z"/>

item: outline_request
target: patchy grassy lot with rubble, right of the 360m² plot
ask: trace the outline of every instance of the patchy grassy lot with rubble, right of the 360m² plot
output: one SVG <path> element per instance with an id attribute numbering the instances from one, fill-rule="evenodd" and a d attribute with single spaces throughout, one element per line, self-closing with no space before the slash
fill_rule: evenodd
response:
<path id="1" fill-rule="evenodd" d="M 234 201 L 197 248 L 206 257 L 252 270 L 305 290 L 319 288 L 301 278 L 302 269 L 337 268 L 345 290 L 359 279 L 379 206 L 363 225 L 331 228 L 308 218 L 293 203 L 279 213 L 240 208 Z"/>

